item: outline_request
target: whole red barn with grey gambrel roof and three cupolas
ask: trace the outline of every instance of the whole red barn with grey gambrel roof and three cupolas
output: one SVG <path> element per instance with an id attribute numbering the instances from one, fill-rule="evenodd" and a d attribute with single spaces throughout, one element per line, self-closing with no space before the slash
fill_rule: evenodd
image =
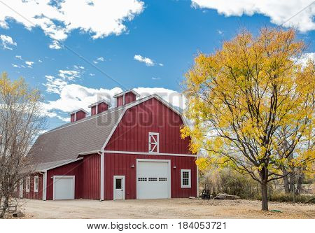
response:
<path id="1" fill-rule="evenodd" d="M 38 137 L 31 148 L 34 174 L 20 197 L 158 199 L 197 196 L 196 155 L 181 139 L 181 112 L 153 94 L 128 90 L 71 113 L 71 122 Z"/>

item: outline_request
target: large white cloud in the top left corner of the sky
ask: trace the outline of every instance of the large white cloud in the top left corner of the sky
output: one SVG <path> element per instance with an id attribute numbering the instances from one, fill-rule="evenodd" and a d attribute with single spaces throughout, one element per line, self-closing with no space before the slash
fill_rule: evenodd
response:
<path id="1" fill-rule="evenodd" d="M 58 49 L 56 41 L 64 41 L 73 30 L 88 33 L 92 38 L 119 35 L 127 28 L 126 20 L 132 20 L 144 10 L 139 0 L 2 0 L 0 27 L 8 28 L 9 20 L 23 24 L 27 29 L 40 27 L 53 42 L 50 48 Z M 21 17 L 22 15 L 23 17 Z"/>

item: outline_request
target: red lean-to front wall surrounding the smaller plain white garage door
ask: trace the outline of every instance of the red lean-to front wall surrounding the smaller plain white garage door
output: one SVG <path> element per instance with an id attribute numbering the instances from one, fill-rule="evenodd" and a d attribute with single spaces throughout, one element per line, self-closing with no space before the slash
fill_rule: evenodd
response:
<path id="1" fill-rule="evenodd" d="M 76 176 L 75 178 L 75 192 L 74 198 L 78 199 L 82 197 L 82 160 L 78 160 L 76 162 L 72 162 L 70 164 L 65 164 L 61 167 L 56 167 L 55 169 L 51 169 L 47 171 L 47 189 L 46 189 L 46 199 L 53 199 L 53 178 L 52 176 Z"/>

